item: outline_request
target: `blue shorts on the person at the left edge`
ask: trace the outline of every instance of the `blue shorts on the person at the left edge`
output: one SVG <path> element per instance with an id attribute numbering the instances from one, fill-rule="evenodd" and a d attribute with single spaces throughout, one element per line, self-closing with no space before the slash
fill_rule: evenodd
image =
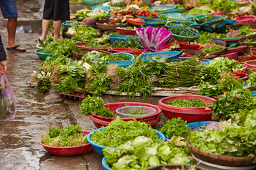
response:
<path id="1" fill-rule="evenodd" d="M 17 8 L 14 0 L 0 0 L 0 6 L 4 18 L 18 17 Z"/>

